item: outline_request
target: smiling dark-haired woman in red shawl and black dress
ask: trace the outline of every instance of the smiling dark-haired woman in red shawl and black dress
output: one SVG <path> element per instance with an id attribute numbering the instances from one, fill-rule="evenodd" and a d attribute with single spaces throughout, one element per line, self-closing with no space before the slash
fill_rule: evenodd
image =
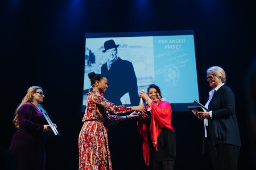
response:
<path id="1" fill-rule="evenodd" d="M 148 95 L 139 95 L 147 102 L 147 113 L 138 119 L 137 128 L 142 135 L 145 164 L 152 169 L 174 169 L 176 159 L 176 135 L 172 127 L 172 109 L 168 101 L 161 100 L 160 88 L 151 84 Z M 149 125 L 149 127 L 148 127 Z"/>

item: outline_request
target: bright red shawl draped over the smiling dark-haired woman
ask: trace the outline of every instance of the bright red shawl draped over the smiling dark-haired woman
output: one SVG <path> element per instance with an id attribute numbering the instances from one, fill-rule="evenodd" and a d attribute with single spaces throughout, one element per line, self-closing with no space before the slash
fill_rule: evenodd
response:
<path id="1" fill-rule="evenodd" d="M 147 105 L 147 109 L 150 109 Z M 174 131 L 172 127 L 172 109 L 171 105 L 168 101 L 160 100 L 158 104 L 154 102 L 151 103 L 151 122 L 150 122 L 150 133 L 151 139 L 153 142 L 156 151 L 158 150 L 157 147 L 157 139 L 158 135 L 160 134 L 162 128 L 170 129 Z M 143 157 L 146 165 L 149 165 L 149 146 L 148 146 L 148 134 L 147 134 L 147 126 L 146 126 L 146 118 L 143 116 L 142 119 L 137 121 L 137 129 L 139 134 L 142 135 L 142 150 L 143 150 Z"/>

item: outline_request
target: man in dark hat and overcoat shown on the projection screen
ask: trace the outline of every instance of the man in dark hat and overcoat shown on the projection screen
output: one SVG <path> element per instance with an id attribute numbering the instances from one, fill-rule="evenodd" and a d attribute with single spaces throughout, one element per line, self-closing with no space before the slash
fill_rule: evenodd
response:
<path id="1" fill-rule="evenodd" d="M 104 43 L 103 53 L 108 60 L 101 66 L 101 74 L 108 79 L 108 90 L 104 96 L 115 105 L 138 105 L 138 85 L 133 63 L 117 56 L 114 40 Z"/>

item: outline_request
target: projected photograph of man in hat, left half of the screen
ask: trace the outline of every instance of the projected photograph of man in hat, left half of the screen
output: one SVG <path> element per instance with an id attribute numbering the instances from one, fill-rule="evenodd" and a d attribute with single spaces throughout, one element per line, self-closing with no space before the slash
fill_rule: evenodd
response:
<path id="1" fill-rule="evenodd" d="M 92 90 L 88 73 L 108 79 L 104 96 L 115 105 L 138 105 L 139 92 L 154 83 L 152 37 L 86 39 L 84 101 Z"/>

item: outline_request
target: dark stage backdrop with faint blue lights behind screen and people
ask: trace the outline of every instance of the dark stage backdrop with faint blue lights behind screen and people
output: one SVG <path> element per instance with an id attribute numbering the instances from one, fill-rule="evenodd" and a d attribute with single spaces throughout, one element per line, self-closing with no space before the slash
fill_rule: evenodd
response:
<path id="1" fill-rule="evenodd" d="M 15 108 L 28 87 L 36 85 L 43 88 L 44 108 L 60 133 L 47 136 L 47 169 L 78 169 L 86 32 L 193 29 L 200 101 L 204 103 L 210 91 L 205 70 L 223 67 L 227 85 L 236 95 L 243 145 L 239 168 L 250 168 L 244 80 L 256 51 L 255 1 L 2 0 L 0 5 L 3 162 L 15 131 L 11 122 Z M 190 112 L 173 112 L 172 121 L 176 169 L 210 169 L 207 155 L 200 154 L 201 122 Z M 109 130 L 114 169 L 146 169 L 135 123 L 122 122 Z"/>

